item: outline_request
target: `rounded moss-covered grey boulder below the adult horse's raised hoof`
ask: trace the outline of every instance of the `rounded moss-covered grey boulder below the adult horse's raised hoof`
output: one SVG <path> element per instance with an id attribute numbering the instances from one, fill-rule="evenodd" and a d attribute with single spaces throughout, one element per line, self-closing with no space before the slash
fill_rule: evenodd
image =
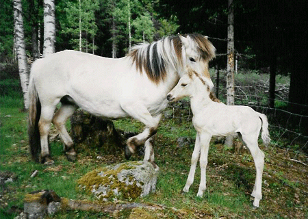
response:
<path id="1" fill-rule="evenodd" d="M 101 201 L 133 200 L 155 191 L 157 175 L 149 162 L 126 162 L 88 172 L 77 183 Z"/>

